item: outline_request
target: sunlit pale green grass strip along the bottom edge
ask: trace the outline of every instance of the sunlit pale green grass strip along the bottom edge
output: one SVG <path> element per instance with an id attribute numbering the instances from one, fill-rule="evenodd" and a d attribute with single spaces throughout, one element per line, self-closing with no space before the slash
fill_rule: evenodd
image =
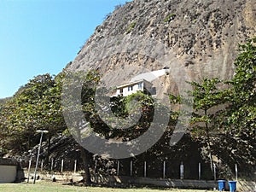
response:
<path id="1" fill-rule="evenodd" d="M 61 183 L 52 183 L 45 181 L 38 181 L 36 184 L 32 183 L 0 183 L 0 191 L 4 192 L 206 192 L 208 190 L 189 190 L 189 189 L 113 189 L 113 188 L 99 188 L 99 187 L 77 187 L 67 186 Z"/>

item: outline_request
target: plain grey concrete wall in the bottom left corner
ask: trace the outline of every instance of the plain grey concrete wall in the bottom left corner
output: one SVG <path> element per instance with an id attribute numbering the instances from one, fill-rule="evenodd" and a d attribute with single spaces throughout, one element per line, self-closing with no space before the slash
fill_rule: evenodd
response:
<path id="1" fill-rule="evenodd" d="M 0 183 L 15 182 L 17 166 L 0 165 Z"/>

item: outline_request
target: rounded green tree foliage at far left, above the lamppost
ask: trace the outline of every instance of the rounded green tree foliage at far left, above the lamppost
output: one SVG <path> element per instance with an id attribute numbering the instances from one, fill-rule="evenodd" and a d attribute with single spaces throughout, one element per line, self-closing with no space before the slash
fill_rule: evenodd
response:
<path id="1" fill-rule="evenodd" d="M 29 150 L 38 143 L 35 131 L 48 130 L 47 136 L 52 137 L 66 128 L 59 77 L 54 79 L 48 73 L 38 75 L 3 106 L 1 137 L 9 136 L 4 143 L 6 148 L 14 153 Z"/>

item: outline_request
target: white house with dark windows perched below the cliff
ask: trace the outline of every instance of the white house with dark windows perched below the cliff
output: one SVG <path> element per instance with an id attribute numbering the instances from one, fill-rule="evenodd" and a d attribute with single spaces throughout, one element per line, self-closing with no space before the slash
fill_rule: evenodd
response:
<path id="1" fill-rule="evenodd" d="M 137 91 L 150 91 L 152 90 L 152 84 L 145 79 L 137 80 L 128 84 L 119 85 L 112 96 L 130 96 Z"/>

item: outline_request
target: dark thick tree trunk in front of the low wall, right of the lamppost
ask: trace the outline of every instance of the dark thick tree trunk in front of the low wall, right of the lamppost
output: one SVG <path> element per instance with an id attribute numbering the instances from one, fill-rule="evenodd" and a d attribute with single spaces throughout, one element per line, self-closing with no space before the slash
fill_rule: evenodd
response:
<path id="1" fill-rule="evenodd" d="M 89 152 L 80 146 L 81 156 L 83 160 L 84 165 L 84 185 L 90 185 L 91 184 L 91 177 L 90 177 L 90 169 L 89 169 L 89 161 L 90 161 L 90 154 Z"/>

